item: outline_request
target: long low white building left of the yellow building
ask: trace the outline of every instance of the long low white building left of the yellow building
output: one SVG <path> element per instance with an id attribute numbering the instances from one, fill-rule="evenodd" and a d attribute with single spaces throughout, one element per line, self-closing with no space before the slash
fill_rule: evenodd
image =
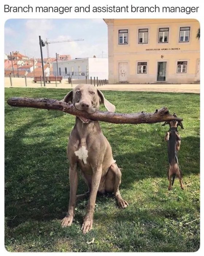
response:
<path id="1" fill-rule="evenodd" d="M 53 74 L 57 75 L 57 62 L 53 63 Z M 98 77 L 108 79 L 108 58 L 80 58 L 58 61 L 58 75 L 65 78 L 87 79 Z"/>

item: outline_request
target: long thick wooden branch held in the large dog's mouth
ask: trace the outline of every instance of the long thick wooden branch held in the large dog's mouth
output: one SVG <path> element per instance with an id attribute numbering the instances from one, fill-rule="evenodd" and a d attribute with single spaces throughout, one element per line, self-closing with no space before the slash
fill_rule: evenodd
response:
<path id="1" fill-rule="evenodd" d="M 57 99 L 10 98 L 7 100 L 7 103 L 15 107 L 61 110 L 74 116 L 82 116 L 95 121 L 115 124 L 151 124 L 170 120 L 183 120 L 182 118 L 172 116 L 166 107 L 159 110 L 156 109 L 154 113 L 142 111 L 139 113 L 123 114 L 96 110 L 95 113 L 89 114 L 76 109 L 73 104 L 70 105 L 66 102 L 58 101 Z"/>

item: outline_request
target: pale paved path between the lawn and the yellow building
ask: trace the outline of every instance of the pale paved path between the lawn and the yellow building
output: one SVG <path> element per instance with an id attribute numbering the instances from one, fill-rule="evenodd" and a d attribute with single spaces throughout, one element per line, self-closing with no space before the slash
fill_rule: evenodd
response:
<path id="1" fill-rule="evenodd" d="M 39 88 L 41 83 L 33 83 L 32 78 L 27 78 L 27 87 Z M 46 88 L 74 88 L 77 84 L 68 83 L 67 79 L 58 82 L 57 87 L 53 82 L 46 84 Z M 5 78 L 5 87 L 11 87 L 10 78 Z M 26 87 L 24 78 L 12 78 L 12 87 Z M 173 92 L 173 93 L 200 93 L 200 84 L 105 84 L 98 86 L 100 90 L 113 91 L 155 91 L 155 92 Z"/>

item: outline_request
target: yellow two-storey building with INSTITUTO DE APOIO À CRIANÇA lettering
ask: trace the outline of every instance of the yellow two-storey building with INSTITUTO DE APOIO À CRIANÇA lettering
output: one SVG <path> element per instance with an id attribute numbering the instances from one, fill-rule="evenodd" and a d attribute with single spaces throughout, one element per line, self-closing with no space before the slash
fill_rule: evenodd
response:
<path id="1" fill-rule="evenodd" d="M 109 83 L 200 81 L 195 19 L 104 19 Z"/>

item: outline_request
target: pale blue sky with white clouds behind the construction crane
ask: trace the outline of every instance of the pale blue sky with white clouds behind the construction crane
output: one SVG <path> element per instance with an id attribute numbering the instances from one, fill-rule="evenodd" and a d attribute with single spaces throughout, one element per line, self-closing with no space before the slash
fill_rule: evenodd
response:
<path id="1" fill-rule="evenodd" d="M 84 41 L 49 44 L 55 53 L 81 57 L 108 57 L 108 29 L 103 19 L 9 19 L 5 22 L 5 53 L 19 50 L 40 57 L 39 35 L 48 41 L 82 38 Z M 46 46 L 43 57 L 47 57 Z"/>

